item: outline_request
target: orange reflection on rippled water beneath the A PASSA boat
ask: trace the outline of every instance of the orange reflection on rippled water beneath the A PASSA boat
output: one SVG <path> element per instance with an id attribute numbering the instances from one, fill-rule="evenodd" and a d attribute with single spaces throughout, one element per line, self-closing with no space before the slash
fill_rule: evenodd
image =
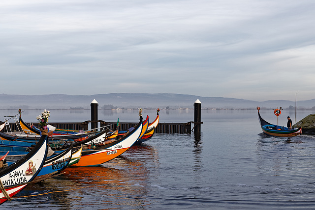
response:
<path id="1" fill-rule="evenodd" d="M 122 156 L 116 157 L 112 161 L 98 167 L 66 168 L 63 171 L 64 174 L 59 176 L 59 178 L 64 177 L 65 180 L 84 184 L 91 183 L 91 181 L 94 184 L 115 184 L 110 187 L 124 185 L 124 190 L 126 190 L 126 185 L 130 182 L 140 182 L 144 185 L 143 182 L 148 179 L 149 173 L 144 162 L 156 162 L 157 159 L 157 151 L 155 151 L 154 147 L 136 145 Z"/>

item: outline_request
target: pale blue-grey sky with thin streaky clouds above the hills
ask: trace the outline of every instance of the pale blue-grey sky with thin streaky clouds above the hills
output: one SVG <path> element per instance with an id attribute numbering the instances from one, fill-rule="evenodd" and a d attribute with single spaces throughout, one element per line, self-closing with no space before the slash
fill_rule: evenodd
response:
<path id="1" fill-rule="evenodd" d="M 0 2 L 4 94 L 315 98 L 314 0 Z"/>

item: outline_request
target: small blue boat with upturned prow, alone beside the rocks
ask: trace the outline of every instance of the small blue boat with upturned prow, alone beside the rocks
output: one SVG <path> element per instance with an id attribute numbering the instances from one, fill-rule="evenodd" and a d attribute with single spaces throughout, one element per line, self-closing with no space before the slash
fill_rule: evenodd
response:
<path id="1" fill-rule="evenodd" d="M 278 125 L 268 123 L 267 121 L 265 121 L 260 116 L 260 113 L 259 113 L 260 108 L 259 107 L 257 107 L 257 110 L 258 110 L 258 120 L 259 120 L 259 123 L 261 126 L 261 130 L 266 135 L 278 136 L 278 137 L 292 137 L 292 136 L 297 136 L 297 135 L 302 134 L 302 128 L 294 128 L 294 129 L 290 130 L 284 126 L 278 126 Z M 280 113 L 281 113 L 281 111 L 276 112 L 276 110 L 275 110 L 275 114 L 280 115 Z"/>

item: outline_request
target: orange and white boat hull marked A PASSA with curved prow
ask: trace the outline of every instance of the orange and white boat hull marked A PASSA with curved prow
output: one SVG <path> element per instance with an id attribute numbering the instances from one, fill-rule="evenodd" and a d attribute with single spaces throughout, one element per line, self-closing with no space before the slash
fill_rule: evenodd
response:
<path id="1" fill-rule="evenodd" d="M 142 129 L 142 116 L 140 116 L 140 122 L 132 131 L 112 143 L 103 146 L 96 144 L 95 149 L 83 150 L 79 162 L 73 166 L 97 166 L 122 155 L 141 137 Z"/>

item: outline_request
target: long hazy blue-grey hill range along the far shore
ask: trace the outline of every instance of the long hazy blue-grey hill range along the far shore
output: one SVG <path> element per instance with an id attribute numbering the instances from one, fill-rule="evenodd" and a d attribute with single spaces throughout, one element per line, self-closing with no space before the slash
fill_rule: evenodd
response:
<path id="1" fill-rule="evenodd" d="M 8 95 L 0 94 L 0 109 L 69 109 L 70 107 L 82 107 L 90 109 L 91 102 L 96 100 L 99 107 L 113 105 L 119 108 L 193 108 L 194 102 L 199 99 L 202 108 L 249 108 L 256 106 L 276 108 L 282 106 L 288 108 L 295 106 L 295 102 L 275 100 L 256 102 L 245 99 L 223 97 L 201 97 L 185 94 L 148 94 L 148 93 L 109 93 L 97 95 Z M 315 106 L 315 99 L 298 101 L 298 107 L 311 108 Z"/>

